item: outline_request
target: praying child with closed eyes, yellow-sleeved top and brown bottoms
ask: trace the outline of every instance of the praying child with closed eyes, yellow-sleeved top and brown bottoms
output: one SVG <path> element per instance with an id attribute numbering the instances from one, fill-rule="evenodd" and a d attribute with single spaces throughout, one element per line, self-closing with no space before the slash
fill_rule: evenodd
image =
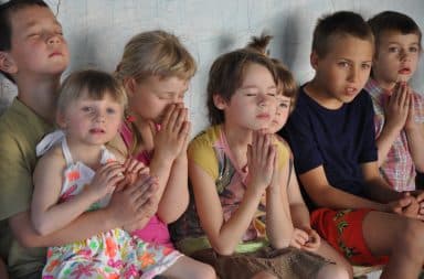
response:
<path id="1" fill-rule="evenodd" d="M 173 227 L 178 247 L 214 266 L 221 278 L 348 278 L 321 257 L 288 248 L 294 227 L 282 191 L 288 150 L 261 132 L 274 117 L 276 94 L 273 62 L 262 54 L 239 50 L 213 63 L 213 126 L 189 147 L 194 198 Z"/>

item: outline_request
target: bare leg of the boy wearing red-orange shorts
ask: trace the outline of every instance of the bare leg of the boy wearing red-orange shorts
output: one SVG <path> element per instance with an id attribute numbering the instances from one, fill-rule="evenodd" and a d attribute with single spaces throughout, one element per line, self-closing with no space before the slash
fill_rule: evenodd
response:
<path id="1" fill-rule="evenodd" d="M 395 214 L 370 212 L 362 230 L 373 255 L 390 256 L 381 278 L 418 277 L 424 264 L 424 223 Z"/>

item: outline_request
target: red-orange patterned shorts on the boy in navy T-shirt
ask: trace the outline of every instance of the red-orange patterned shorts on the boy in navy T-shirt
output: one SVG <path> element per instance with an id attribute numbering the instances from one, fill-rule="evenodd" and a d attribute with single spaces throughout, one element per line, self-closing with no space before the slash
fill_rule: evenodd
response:
<path id="1" fill-rule="evenodd" d="M 310 223 L 312 228 L 351 264 L 361 266 L 384 265 L 389 257 L 373 256 L 363 238 L 362 222 L 370 211 L 319 208 L 310 215 Z"/>

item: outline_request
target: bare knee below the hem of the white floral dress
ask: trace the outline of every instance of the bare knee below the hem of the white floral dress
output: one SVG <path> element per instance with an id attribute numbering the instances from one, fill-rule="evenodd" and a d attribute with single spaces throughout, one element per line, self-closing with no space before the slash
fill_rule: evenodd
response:
<path id="1" fill-rule="evenodd" d="M 168 268 L 162 276 L 167 278 L 184 279 L 215 279 L 215 270 L 206 264 L 187 256 L 180 257 L 176 264 Z"/>

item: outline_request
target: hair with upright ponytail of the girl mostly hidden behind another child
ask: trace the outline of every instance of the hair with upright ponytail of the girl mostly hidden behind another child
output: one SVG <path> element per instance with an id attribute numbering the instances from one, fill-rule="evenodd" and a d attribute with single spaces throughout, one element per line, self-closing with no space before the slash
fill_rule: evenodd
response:
<path id="1" fill-rule="evenodd" d="M 261 53 L 265 56 L 269 56 L 269 51 L 267 50 L 272 35 L 262 33 L 261 36 L 252 36 L 251 42 L 247 43 L 246 50 Z M 290 111 L 295 108 L 297 99 L 297 84 L 292 74 L 292 72 L 276 58 L 271 58 L 275 66 L 275 72 L 278 78 L 278 85 L 282 90 L 279 92 L 283 96 L 290 98 Z"/>

